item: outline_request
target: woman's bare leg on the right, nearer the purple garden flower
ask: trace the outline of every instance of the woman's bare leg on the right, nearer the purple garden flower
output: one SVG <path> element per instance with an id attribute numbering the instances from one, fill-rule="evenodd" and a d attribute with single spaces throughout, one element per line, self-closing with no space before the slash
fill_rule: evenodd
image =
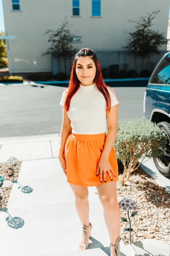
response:
<path id="1" fill-rule="evenodd" d="M 120 236 L 120 207 L 117 199 L 116 181 L 105 182 L 96 186 L 100 202 L 104 209 L 104 218 L 110 242 L 115 245 Z M 118 246 L 120 250 L 120 246 Z M 111 245 L 111 256 L 116 256 L 115 247 Z"/>

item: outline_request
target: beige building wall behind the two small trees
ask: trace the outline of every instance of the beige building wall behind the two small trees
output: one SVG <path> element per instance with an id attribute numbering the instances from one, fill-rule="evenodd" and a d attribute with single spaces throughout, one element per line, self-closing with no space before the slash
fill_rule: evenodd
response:
<path id="1" fill-rule="evenodd" d="M 161 10 L 153 20 L 151 29 L 167 35 L 169 0 L 101 0 L 102 18 L 91 18 L 92 1 L 80 0 L 80 16 L 72 16 L 72 0 L 20 0 L 21 12 L 11 11 L 11 0 L 3 0 L 5 29 L 16 39 L 9 41 L 12 72 L 51 71 L 51 57 L 41 54 L 50 46 L 47 29 L 56 30 L 66 19 L 70 32 L 82 36 L 75 48 L 93 50 L 122 50 L 128 42 L 134 23 L 146 12 Z M 166 45 L 160 48 L 166 50 Z"/>

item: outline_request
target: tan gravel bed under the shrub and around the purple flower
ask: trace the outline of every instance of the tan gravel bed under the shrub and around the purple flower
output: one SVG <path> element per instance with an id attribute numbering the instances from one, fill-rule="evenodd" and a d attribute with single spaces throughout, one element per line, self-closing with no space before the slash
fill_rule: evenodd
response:
<path id="1" fill-rule="evenodd" d="M 122 185 L 117 181 L 117 195 L 134 199 L 137 204 L 135 217 L 131 217 L 131 241 L 139 241 L 145 238 L 162 240 L 170 245 L 170 194 L 158 183 L 146 174 L 141 167 L 134 171 L 127 183 Z M 132 211 L 133 212 L 133 211 Z M 129 212 L 129 216 L 131 213 Z M 121 210 L 121 217 L 128 220 L 127 212 Z M 129 221 L 129 220 L 128 220 Z M 130 232 L 128 222 L 121 222 L 121 237 L 125 245 L 130 244 Z"/>

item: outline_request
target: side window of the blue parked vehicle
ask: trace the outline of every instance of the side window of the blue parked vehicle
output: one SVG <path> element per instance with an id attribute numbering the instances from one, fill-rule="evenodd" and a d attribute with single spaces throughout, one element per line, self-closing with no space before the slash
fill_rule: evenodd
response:
<path id="1" fill-rule="evenodd" d="M 160 62 L 156 68 L 150 83 L 152 84 L 170 84 L 170 54 Z"/>

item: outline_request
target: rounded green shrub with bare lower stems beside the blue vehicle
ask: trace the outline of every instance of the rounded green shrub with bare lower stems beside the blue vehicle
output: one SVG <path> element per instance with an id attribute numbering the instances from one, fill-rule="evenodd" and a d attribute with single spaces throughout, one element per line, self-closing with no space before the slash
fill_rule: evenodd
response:
<path id="1" fill-rule="evenodd" d="M 126 185 L 131 173 L 137 170 L 146 157 L 163 155 L 166 143 L 163 128 L 159 128 L 156 123 L 150 123 L 150 120 L 144 117 L 119 121 L 114 149 L 117 159 L 119 158 L 124 166 L 120 182 Z M 139 159 L 141 162 L 137 164 Z"/>

